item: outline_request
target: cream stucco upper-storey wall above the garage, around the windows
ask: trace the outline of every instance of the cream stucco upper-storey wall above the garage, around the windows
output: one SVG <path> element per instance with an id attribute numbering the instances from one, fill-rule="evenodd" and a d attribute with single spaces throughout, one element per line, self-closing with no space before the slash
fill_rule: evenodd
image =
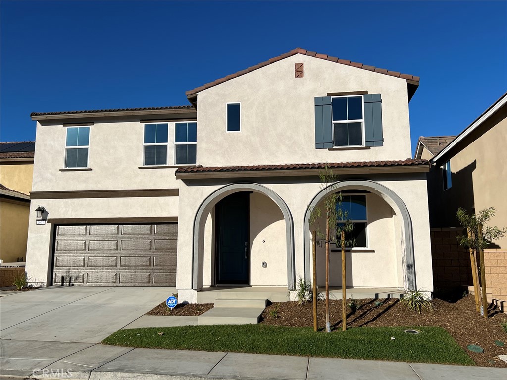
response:
<path id="1" fill-rule="evenodd" d="M 174 122 L 169 122 L 174 141 Z M 83 191 L 110 189 L 177 188 L 173 168 L 139 169 L 143 162 L 143 123 L 98 123 L 90 126 L 88 167 L 91 171 L 64 168 L 66 127 L 37 123 L 33 191 Z M 172 137 L 171 137 L 172 136 Z M 169 143 L 168 165 L 174 145 Z"/>

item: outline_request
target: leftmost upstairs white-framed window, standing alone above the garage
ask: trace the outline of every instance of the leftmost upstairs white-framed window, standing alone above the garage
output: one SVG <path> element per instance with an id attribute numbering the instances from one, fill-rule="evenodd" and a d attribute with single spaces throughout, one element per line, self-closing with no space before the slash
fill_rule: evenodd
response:
<path id="1" fill-rule="evenodd" d="M 67 127 L 65 168 L 87 168 L 90 147 L 90 127 Z"/>

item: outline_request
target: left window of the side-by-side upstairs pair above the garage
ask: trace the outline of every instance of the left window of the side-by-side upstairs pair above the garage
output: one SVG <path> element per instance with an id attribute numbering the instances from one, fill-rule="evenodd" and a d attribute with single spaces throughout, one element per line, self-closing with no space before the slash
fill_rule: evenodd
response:
<path id="1" fill-rule="evenodd" d="M 167 123 L 144 124 L 143 165 L 167 165 Z"/>

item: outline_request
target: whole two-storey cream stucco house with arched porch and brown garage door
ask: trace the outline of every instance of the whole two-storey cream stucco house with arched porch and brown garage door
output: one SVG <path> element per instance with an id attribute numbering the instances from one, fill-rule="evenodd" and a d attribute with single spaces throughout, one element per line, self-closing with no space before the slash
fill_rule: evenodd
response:
<path id="1" fill-rule="evenodd" d="M 347 286 L 432 291 L 419 78 L 296 49 L 187 92 L 191 106 L 32 113 L 30 276 L 48 284 L 285 287 L 311 279 L 309 209 L 339 175 Z M 331 286 L 341 286 L 332 253 Z M 317 282 L 324 284 L 324 251 Z"/>

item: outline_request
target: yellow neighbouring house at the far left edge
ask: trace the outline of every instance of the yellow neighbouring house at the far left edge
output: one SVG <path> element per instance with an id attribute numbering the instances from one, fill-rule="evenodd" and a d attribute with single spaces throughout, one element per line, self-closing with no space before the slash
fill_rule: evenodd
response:
<path id="1" fill-rule="evenodd" d="M 25 260 L 34 150 L 34 141 L 0 143 L 0 259 L 4 263 Z"/>

